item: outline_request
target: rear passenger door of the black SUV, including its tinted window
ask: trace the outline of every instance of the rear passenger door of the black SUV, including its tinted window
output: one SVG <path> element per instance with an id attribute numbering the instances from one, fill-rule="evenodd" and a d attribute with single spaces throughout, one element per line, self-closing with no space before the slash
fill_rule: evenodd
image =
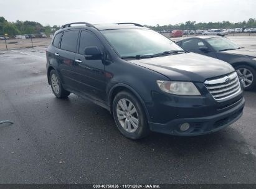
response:
<path id="1" fill-rule="evenodd" d="M 60 48 L 55 51 L 62 84 L 70 89 L 74 89 L 76 87 L 73 66 L 75 65 L 78 34 L 78 29 L 65 30 L 60 41 Z"/>

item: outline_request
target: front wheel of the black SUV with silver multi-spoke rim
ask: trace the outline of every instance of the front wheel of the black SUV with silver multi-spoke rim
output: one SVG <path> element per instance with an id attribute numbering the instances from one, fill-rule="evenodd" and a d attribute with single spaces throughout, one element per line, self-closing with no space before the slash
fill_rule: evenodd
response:
<path id="1" fill-rule="evenodd" d="M 116 94 L 113 100 L 113 117 L 121 134 L 129 139 L 142 139 L 150 133 L 143 106 L 128 91 Z"/>

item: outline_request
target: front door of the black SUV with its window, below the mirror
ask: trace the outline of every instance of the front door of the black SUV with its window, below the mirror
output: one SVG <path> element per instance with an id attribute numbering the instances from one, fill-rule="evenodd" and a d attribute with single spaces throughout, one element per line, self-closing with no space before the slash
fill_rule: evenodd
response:
<path id="1" fill-rule="evenodd" d="M 98 47 L 103 54 L 103 45 L 98 37 L 89 30 L 81 30 L 78 52 L 75 55 L 75 77 L 78 87 L 90 98 L 106 101 L 105 70 L 103 60 L 86 60 L 86 47 Z"/>

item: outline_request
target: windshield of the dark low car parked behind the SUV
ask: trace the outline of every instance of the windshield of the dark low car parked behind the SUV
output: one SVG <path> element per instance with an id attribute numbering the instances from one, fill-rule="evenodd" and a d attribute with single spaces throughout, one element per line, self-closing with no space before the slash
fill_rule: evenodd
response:
<path id="1" fill-rule="evenodd" d="M 225 37 L 209 38 L 209 39 L 206 39 L 206 41 L 216 51 L 232 50 L 232 49 L 240 48 L 239 45 L 235 44 L 234 42 L 230 41 Z"/>

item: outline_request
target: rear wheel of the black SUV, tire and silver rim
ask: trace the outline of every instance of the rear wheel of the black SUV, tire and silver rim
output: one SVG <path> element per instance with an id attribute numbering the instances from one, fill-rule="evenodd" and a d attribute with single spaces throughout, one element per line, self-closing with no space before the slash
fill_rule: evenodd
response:
<path id="1" fill-rule="evenodd" d="M 64 90 L 62 87 L 62 84 L 60 82 L 60 78 L 57 75 L 55 70 L 50 71 L 50 86 L 52 88 L 52 92 L 57 98 L 67 98 L 69 96 L 70 92 Z"/>

